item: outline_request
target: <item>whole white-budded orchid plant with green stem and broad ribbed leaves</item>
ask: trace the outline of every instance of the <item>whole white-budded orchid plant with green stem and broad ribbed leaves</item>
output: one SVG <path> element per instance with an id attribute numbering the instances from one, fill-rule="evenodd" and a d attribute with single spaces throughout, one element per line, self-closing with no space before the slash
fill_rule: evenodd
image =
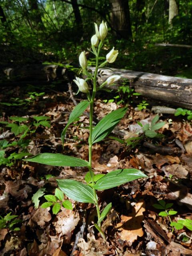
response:
<path id="1" fill-rule="evenodd" d="M 98 203 L 98 196 L 97 190 L 106 190 L 110 188 L 114 188 L 116 186 L 120 186 L 126 182 L 136 180 L 138 178 L 147 177 L 143 172 L 136 169 L 121 169 L 121 170 L 114 170 L 107 174 L 94 174 L 92 169 L 92 145 L 96 142 L 100 142 L 103 140 L 112 130 L 114 127 L 120 122 L 123 116 L 126 113 L 126 108 L 118 108 L 117 110 L 112 111 L 111 113 L 107 114 L 96 126 L 93 128 L 93 110 L 94 110 L 94 99 L 96 92 L 98 90 L 107 90 L 105 88 L 106 85 L 111 85 L 117 80 L 120 79 L 120 76 L 113 75 L 110 76 L 104 81 L 102 84 L 98 85 L 97 82 L 97 74 L 98 70 L 101 67 L 106 66 L 108 63 L 113 63 L 117 56 L 118 50 L 112 50 L 106 55 L 106 60 L 99 64 L 99 54 L 100 50 L 103 46 L 104 39 L 107 36 L 107 25 L 102 21 L 99 26 L 95 23 L 95 32 L 94 36 L 91 38 L 91 45 L 92 45 L 92 54 L 96 57 L 96 66 L 94 70 L 94 74 L 88 72 L 88 62 L 86 59 L 85 51 L 83 51 L 79 56 L 79 63 L 82 68 L 82 72 L 87 78 L 84 80 L 82 78 L 76 77 L 74 83 L 78 86 L 78 90 L 80 92 L 86 93 L 87 100 L 80 102 L 74 110 L 71 112 L 68 123 L 64 128 L 61 139 L 62 144 L 64 144 L 66 130 L 70 124 L 72 124 L 76 118 L 83 114 L 83 112 L 90 107 L 90 134 L 88 139 L 89 144 L 89 159 L 83 160 L 80 158 L 75 158 L 72 156 L 67 156 L 63 154 L 54 154 L 54 153 L 42 153 L 36 156 L 32 156 L 30 158 L 24 159 L 25 161 L 29 162 L 37 162 L 40 164 L 47 164 L 52 166 L 82 166 L 87 167 L 88 172 L 85 175 L 85 182 L 79 182 L 76 180 L 71 179 L 58 179 L 57 184 L 58 187 L 64 194 L 77 202 L 84 202 L 84 203 L 92 203 L 96 207 L 96 212 L 98 216 L 97 223 L 94 224 L 96 229 L 100 232 L 104 241 L 106 241 L 106 236 L 102 231 L 102 221 L 112 208 L 112 203 L 109 203 L 102 211 L 100 209 L 100 205 Z M 92 88 L 88 85 L 89 81 L 92 81 Z"/>

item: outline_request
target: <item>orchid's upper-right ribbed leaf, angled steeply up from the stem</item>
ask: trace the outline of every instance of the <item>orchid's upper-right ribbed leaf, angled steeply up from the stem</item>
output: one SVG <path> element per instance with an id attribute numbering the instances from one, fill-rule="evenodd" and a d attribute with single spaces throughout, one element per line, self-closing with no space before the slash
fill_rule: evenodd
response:
<path id="1" fill-rule="evenodd" d="M 92 133 L 92 144 L 104 139 L 115 126 L 120 122 L 126 113 L 127 108 L 119 108 L 107 114 L 100 122 L 95 126 Z"/>

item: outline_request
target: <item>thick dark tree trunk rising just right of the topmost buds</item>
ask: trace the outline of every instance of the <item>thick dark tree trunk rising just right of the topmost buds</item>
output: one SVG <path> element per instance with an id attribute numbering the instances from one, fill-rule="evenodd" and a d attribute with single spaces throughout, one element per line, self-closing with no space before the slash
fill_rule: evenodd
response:
<path id="1" fill-rule="evenodd" d="M 112 27 L 122 38 L 132 39 L 130 10 L 128 0 L 111 0 L 112 3 Z"/>

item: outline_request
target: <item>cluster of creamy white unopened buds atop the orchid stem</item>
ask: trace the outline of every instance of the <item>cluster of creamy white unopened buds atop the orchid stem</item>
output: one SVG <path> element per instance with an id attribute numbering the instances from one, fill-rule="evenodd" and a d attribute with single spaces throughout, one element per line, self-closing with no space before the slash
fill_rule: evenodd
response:
<path id="1" fill-rule="evenodd" d="M 94 25 L 95 25 L 95 34 L 91 38 L 91 45 L 92 45 L 92 49 L 94 51 L 93 53 L 96 55 L 96 58 L 98 58 L 98 54 L 95 50 L 95 47 L 97 47 L 99 45 L 98 48 L 99 49 L 101 48 L 102 42 L 104 41 L 104 39 L 107 36 L 108 28 L 107 28 L 106 22 L 104 22 L 104 21 L 102 21 L 99 28 L 96 23 L 94 23 Z M 100 44 L 99 44 L 99 40 L 101 41 Z M 99 50 L 98 50 L 98 52 L 99 52 Z M 114 50 L 114 47 L 113 47 L 112 50 L 110 50 L 110 52 L 106 55 L 106 61 L 103 62 L 101 64 L 101 66 L 105 66 L 107 63 L 113 63 L 116 60 L 117 56 L 118 56 L 118 50 Z M 88 66 L 88 62 L 87 62 L 87 58 L 85 55 L 85 51 L 81 52 L 81 54 L 79 56 L 79 63 L 80 63 L 80 66 L 82 67 L 82 69 L 85 71 L 85 73 L 88 74 L 88 71 L 86 70 L 86 68 Z M 113 84 L 114 82 L 116 82 L 119 79 L 120 79 L 120 76 L 117 76 L 117 75 L 110 76 L 100 86 L 100 88 L 102 88 L 106 84 L 107 85 Z M 88 88 L 88 84 L 87 84 L 86 80 L 76 77 L 76 80 L 73 80 L 73 81 L 78 86 L 80 92 L 84 92 L 84 93 L 89 92 L 89 88 Z"/>

